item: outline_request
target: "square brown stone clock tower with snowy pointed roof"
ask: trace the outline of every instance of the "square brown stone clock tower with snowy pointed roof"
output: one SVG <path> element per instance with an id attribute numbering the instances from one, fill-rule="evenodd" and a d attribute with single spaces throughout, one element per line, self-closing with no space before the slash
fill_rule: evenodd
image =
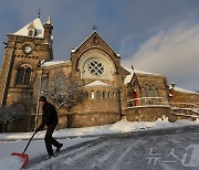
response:
<path id="1" fill-rule="evenodd" d="M 51 19 L 42 25 L 36 18 L 15 33 L 8 34 L 0 75 L 0 106 L 21 107 L 29 114 L 24 121 L 30 127 L 31 115 L 35 113 L 33 85 L 39 78 L 38 71 L 43 61 L 53 59 Z"/>

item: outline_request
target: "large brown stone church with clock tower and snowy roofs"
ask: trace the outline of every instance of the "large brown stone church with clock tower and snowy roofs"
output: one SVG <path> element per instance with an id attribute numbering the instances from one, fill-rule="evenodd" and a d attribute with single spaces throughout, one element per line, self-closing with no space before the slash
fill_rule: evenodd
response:
<path id="1" fill-rule="evenodd" d="M 84 97 L 70 111 L 56 107 L 57 128 L 107 125 L 123 118 L 155 121 L 163 117 L 170 120 L 197 117 L 198 93 L 170 85 L 164 75 L 123 67 L 121 55 L 96 30 L 71 50 L 70 61 L 53 60 L 52 30 L 50 18 L 44 24 L 36 18 L 8 34 L 0 75 L 0 105 L 20 107 L 25 115 L 10 124 L 9 131 L 30 131 L 38 126 L 42 114 L 38 97 L 44 95 L 53 103 L 41 88 L 46 82 L 48 88 L 59 78 L 81 85 Z M 185 109 L 188 106 L 189 111 Z"/>

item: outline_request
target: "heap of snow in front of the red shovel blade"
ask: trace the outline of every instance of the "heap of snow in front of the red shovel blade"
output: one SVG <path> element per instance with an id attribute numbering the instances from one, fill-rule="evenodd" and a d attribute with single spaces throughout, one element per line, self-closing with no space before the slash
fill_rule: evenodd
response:
<path id="1" fill-rule="evenodd" d="M 0 170 L 20 170 L 22 164 L 22 159 L 10 156 L 0 160 Z"/>

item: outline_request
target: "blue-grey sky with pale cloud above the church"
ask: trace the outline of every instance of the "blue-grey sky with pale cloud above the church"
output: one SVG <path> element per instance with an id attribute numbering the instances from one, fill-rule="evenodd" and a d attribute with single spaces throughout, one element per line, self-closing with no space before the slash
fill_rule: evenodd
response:
<path id="1" fill-rule="evenodd" d="M 69 61 L 95 24 L 124 66 L 199 91 L 199 0 L 3 0 L 0 63 L 6 34 L 33 21 L 39 9 L 42 23 L 52 18 L 54 60 Z"/>

